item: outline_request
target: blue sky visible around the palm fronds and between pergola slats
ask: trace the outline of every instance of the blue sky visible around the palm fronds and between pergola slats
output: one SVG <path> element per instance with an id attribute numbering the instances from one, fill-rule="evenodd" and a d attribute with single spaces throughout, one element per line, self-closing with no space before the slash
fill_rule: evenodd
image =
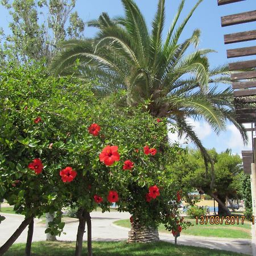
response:
<path id="1" fill-rule="evenodd" d="M 158 0 L 135 0 L 135 2 L 138 4 L 139 8 L 144 14 L 147 25 L 150 28 Z M 166 28 L 163 31 L 163 35 L 167 34 L 168 27 L 171 24 L 172 18 L 176 13 L 179 3 L 180 0 L 166 0 Z M 195 3 L 195 0 L 187 0 L 185 2 L 185 7 L 181 18 L 184 18 L 185 15 L 187 15 Z M 229 60 L 226 59 L 226 49 L 255 46 L 255 41 L 225 46 L 223 35 L 233 32 L 254 30 L 256 27 L 256 22 L 222 28 L 221 16 L 255 9 L 255 0 L 246 0 L 226 6 L 217 6 L 217 0 L 204 0 L 192 16 L 181 39 L 188 38 L 195 28 L 200 28 L 201 42 L 199 48 L 210 48 L 217 51 L 217 53 L 211 53 L 209 55 L 211 67 L 228 63 Z M 123 14 L 121 0 L 77 0 L 76 10 L 85 22 L 90 19 L 98 18 L 102 12 L 108 13 L 111 17 Z M 3 27 L 5 31 L 9 31 L 8 23 L 10 22 L 10 16 L 8 15 L 8 11 L 2 6 L 0 6 L 0 16 L 0 26 Z M 86 37 L 93 36 L 95 33 L 96 30 L 94 28 L 85 28 Z M 243 60 L 253 59 L 254 57 L 243 57 Z M 233 59 L 232 61 L 236 60 L 239 60 L 239 58 Z M 238 154 L 241 154 L 241 150 L 251 149 L 251 143 L 249 143 L 247 147 L 243 146 L 239 132 L 231 123 L 227 123 L 226 131 L 221 132 L 221 134 L 217 136 L 204 121 L 193 122 L 191 120 L 191 122 L 195 126 L 197 134 L 207 148 L 215 147 L 217 151 L 224 151 L 226 148 L 232 148 L 232 151 Z M 172 135 L 171 138 L 177 139 L 175 135 Z"/>

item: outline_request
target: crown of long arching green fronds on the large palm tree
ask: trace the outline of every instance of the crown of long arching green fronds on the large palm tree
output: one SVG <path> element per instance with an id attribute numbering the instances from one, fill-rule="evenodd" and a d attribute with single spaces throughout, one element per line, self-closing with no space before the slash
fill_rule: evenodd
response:
<path id="1" fill-rule="evenodd" d="M 102 13 L 97 20 L 90 21 L 89 26 L 99 30 L 95 38 L 64 42 L 53 58 L 51 71 L 63 76 L 75 72 L 81 80 L 97 79 L 100 85 L 95 85 L 94 90 L 102 96 L 125 90 L 128 105 L 146 102 L 152 115 L 167 117 L 180 136 L 185 135 L 200 148 L 208 166 L 212 160 L 188 117 L 204 118 L 217 134 L 229 120 L 240 130 L 244 141 L 247 134 L 235 119 L 232 89 L 219 90 L 216 85 L 230 83 L 227 65 L 210 69 L 207 54 L 213 51 L 197 49 L 198 29 L 179 42 L 184 27 L 202 1 L 178 24 L 185 3 L 181 0 L 163 39 L 164 0 L 158 2 L 151 32 L 134 0 L 122 0 L 125 17 L 110 19 Z M 195 50 L 188 53 L 191 46 Z"/>

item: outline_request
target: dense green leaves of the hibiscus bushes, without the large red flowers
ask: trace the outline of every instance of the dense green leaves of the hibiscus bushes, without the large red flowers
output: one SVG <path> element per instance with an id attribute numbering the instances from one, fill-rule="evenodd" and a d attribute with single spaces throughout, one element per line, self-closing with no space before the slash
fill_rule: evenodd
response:
<path id="1" fill-rule="evenodd" d="M 10 66 L 0 81 L 1 197 L 16 212 L 57 211 L 55 225 L 46 232 L 60 234 L 59 209 L 71 205 L 92 212 L 97 195 L 102 210 L 109 210 L 114 191 L 118 209 L 142 224 L 176 228 L 179 187 L 166 164 L 182 161 L 184 150 L 167 141 L 166 119 L 158 122 L 144 106 L 118 108 L 122 92 L 98 101 L 89 82 L 54 78 L 36 65 Z M 101 127 L 99 134 L 90 133 L 92 123 Z M 99 158 L 107 145 L 118 146 L 119 154 L 108 166 Z M 145 154 L 146 145 L 155 150 Z M 28 168 L 34 159 L 42 161 L 42 172 Z M 124 170 L 126 160 L 133 162 L 131 170 Z M 76 172 L 71 180 L 61 179 L 66 167 Z M 147 202 L 151 187 L 159 188 L 159 195 Z"/>

